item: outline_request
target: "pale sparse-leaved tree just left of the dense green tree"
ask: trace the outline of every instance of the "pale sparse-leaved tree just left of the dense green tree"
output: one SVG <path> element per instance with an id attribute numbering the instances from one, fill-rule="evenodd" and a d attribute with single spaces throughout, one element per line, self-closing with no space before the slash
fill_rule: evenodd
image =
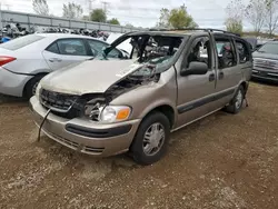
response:
<path id="1" fill-rule="evenodd" d="M 68 3 L 62 7 L 62 17 L 69 19 L 81 19 L 83 13 L 83 9 L 80 4 Z"/>

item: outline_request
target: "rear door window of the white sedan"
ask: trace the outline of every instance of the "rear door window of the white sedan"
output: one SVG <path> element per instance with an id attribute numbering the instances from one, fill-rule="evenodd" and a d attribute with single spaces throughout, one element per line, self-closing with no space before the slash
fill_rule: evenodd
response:
<path id="1" fill-rule="evenodd" d="M 57 41 L 57 44 L 60 54 L 87 56 L 86 47 L 81 39 L 61 39 Z M 52 50 L 57 50 L 54 48 L 53 46 Z"/>

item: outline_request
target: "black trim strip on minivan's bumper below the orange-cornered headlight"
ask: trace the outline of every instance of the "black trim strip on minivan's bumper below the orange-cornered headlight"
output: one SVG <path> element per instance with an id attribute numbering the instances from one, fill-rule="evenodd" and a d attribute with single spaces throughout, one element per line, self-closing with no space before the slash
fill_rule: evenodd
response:
<path id="1" fill-rule="evenodd" d="M 131 130 L 131 125 L 116 127 L 110 129 L 92 129 L 79 127 L 77 125 L 67 125 L 66 130 L 79 136 L 91 137 L 91 138 L 108 138 L 126 135 Z"/>

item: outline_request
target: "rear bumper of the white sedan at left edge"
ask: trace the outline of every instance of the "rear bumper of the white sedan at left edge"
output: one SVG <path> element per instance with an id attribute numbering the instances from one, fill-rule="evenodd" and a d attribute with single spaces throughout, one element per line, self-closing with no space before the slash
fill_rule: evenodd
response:
<path id="1" fill-rule="evenodd" d="M 17 74 L 0 67 L 0 93 L 22 97 L 26 83 L 32 76 Z"/>

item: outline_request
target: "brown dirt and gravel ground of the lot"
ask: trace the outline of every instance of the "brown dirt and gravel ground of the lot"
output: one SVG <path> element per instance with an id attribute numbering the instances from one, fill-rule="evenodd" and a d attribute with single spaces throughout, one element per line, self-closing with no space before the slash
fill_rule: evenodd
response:
<path id="1" fill-rule="evenodd" d="M 0 104 L 0 208 L 278 208 L 278 87 L 251 83 L 249 108 L 218 112 L 171 137 L 139 167 L 95 159 L 47 137 L 28 106 Z"/>

